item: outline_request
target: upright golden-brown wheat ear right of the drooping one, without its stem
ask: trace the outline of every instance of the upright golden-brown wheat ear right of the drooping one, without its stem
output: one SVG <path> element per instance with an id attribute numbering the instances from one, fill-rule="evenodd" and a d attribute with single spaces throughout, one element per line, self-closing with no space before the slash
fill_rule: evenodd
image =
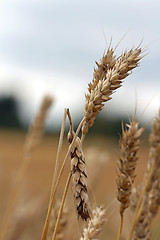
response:
<path id="1" fill-rule="evenodd" d="M 139 128 L 139 123 L 132 120 L 128 129 L 122 128 L 122 138 L 120 139 L 120 158 L 117 165 L 117 199 L 120 201 L 120 214 L 130 205 L 130 195 L 135 179 L 135 168 L 138 160 L 137 152 L 140 145 L 140 136 L 143 128 Z"/>

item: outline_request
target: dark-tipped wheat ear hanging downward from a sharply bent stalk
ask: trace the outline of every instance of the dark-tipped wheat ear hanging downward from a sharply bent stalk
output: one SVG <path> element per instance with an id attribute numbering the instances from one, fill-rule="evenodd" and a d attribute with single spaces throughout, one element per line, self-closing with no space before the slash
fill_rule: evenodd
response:
<path id="1" fill-rule="evenodd" d="M 68 133 L 68 141 L 71 144 L 74 138 L 74 131 L 71 127 Z M 81 140 L 76 138 L 74 148 L 70 154 L 71 158 L 71 174 L 72 174 L 72 190 L 74 194 L 75 207 L 77 214 L 83 220 L 90 218 L 90 203 L 87 190 L 87 172 L 85 158 L 82 151 Z"/>

